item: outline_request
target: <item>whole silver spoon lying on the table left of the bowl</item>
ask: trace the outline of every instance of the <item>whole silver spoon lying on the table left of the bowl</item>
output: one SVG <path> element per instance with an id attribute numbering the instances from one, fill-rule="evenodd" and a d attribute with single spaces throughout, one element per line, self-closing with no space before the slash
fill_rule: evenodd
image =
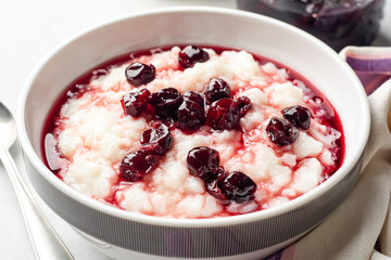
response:
<path id="1" fill-rule="evenodd" d="M 0 102 L 0 160 L 14 186 L 37 259 L 74 259 L 53 227 L 43 217 L 24 183 L 9 152 L 17 138 L 16 125 L 10 110 Z"/>

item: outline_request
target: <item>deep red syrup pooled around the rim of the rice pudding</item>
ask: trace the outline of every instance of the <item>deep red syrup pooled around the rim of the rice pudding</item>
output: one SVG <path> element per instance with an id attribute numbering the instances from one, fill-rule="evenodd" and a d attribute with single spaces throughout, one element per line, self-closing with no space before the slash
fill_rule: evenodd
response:
<path id="1" fill-rule="evenodd" d="M 217 54 L 220 54 L 223 51 L 240 51 L 238 49 L 216 47 L 216 46 L 213 46 L 213 47 L 200 46 L 200 47 L 213 49 Z M 110 72 L 111 68 L 118 67 L 131 58 L 139 57 L 142 55 L 151 55 L 151 54 L 155 54 L 155 53 L 161 53 L 161 52 L 169 50 L 171 48 L 172 48 L 172 46 L 153 48 L 153 49 L 149 49 L 149 50 L 141 50 L 141 51 L 131 52 L 129 54 L 112 58 L 112 60 L 84 73 L 80 77 L 78 77 L 77 79 L 75 79 L 73 82 L 71 82 L 68 84 L 68 87 L 65 89 L 65 91 L 58 98 L 58 100 L 54 101 L 54 103 L 46 118 L 46 121 L 45 121 L 45 125 L 42 128 L 42 132 L 41 132 L 41 154 L 42 154 L 43 162 L 54 174 L 56 174 L 60 179 L 62 179 L 62 177 L 61 177 L 61 174 L 59 174 L 59 172 L 61 170 L 60 168 L 62 166 L 62 161 L 65 160 L 65 158 L 63 158 L 62 155 L 60 154 L 59 148 L 56 146 L 55 140 L 58 138 L 58 133 L 53 132 L 54 129 L 58 127 L 56 121 L 59 119 L 60 109 L 61 109 L 62 105 L 68 99 L 72 99 L 72 98 L 77 99 L 77 98 L 81 96 L 86 91 L 88 91 L 88 89 L 86 87 L 88 86 L 88 83 L 90 82 L 91 79 L 94 79 L 101 75 L 108 74 L 108 72 Z M 184 49 L 185 46 L 179 46 L 179 48 Z M 310 100 L 312 100 L 313 102 L 315 102 L 317 104 L 320 104 L 320 105 L 317 105 L 317 109 L 324 109 L 326 112 L 325 115 L 320 117 L 323 119 L 323 121 L 325 122 L 325 125 L 332 127 L 333 129 L 336 129 L 337 131 L 339 131 L 341 133 L 341 136 L 336 141 L 336 144 L 338 146 L 338 148 L 337 148 L 338 151 L 335 151 L 337 154 L 336 166 L 325 167 L 324 172 L 323 172 L 325 180 L 327 180 L 329 177 L 332 176 L 332 173 L 335 171 L 337 171 L 340 168 L 340 166 L 342 165 L 343 158 L 344 158 L 344 150 L 345 150 L 344 148 L 344 135 L 343 135 L 343 131 L 342 131 L 342 122 L 340 120 L 338 113 L 335 110 L 333 106 L 328 102 L 327 98 L 318 89 L 316 89 L 315 86 L 313 86 L 307 79 L 305 79 L 298 72 L 282 65 L 279 62 L 273 61 L 270 58 L 266 58 L 264 56 L 261 56 L 261 55 L 257 55 L 254 53 L 251 53 L 251 54 L 253 55 L 254 60 L 260 65 L 272 62 L 278 68 L 285 68 L 289 75 L 289 80 L 292 81 L 293 84 L 295 84 L 297 87 L 303 89 L 305 94 L 310 96 Z M 178 70 L 182 70 L 182 69 L 184 68 L 181 68 L 180 66 L 178 67 Z M 232 94 L 235 94 L 235 93 L 232 93 Z M 313 105 L 310 101 L 306 102 L 305 105 L 306 105 L 306 107 L 308 107 L 312 110 L 315 109 L 315 105 Z M 176 125 L 169 126 L 169 128 L 172 130 L 176 127 L 177 127 Z M 184 131 L 184 132 L 187 134 L 194 133 L 193 131 L 189 131 L 189 132 Z M 46 142 L 46 140 L 47 140 L 47 142 Z M 245 148 L 244 144 L 242 144 L 242 147 L 238 148 L 238 151 L 242 151 L 244 148 Z M 278 153 L 278 151 L 277 151 L 277 153 Z M 294 168 L 292 170 L 294 170 Z M 119 176 L 117 185 L 119 185 L 124 181 L 125 180 Z M 147 186 L 146 188 L 150 188 L 150 187 Z M 121 208 L 121 206 L 115 200 L 116 192 L 117 192 L 117 190 L 114 188 L 113 194 L 110 195 L 109 197 L 106 197 L 104 199 L 104 202 L 110 205 L 113 205 L 114 207 Z M 257 209 L 257 210 L 260 210 L 260 209 Z M 237 214 L 237 213 L 224 212 L 224 216 L 227 216 L 227 214 L 232 216 L 232 214 Z"/>

